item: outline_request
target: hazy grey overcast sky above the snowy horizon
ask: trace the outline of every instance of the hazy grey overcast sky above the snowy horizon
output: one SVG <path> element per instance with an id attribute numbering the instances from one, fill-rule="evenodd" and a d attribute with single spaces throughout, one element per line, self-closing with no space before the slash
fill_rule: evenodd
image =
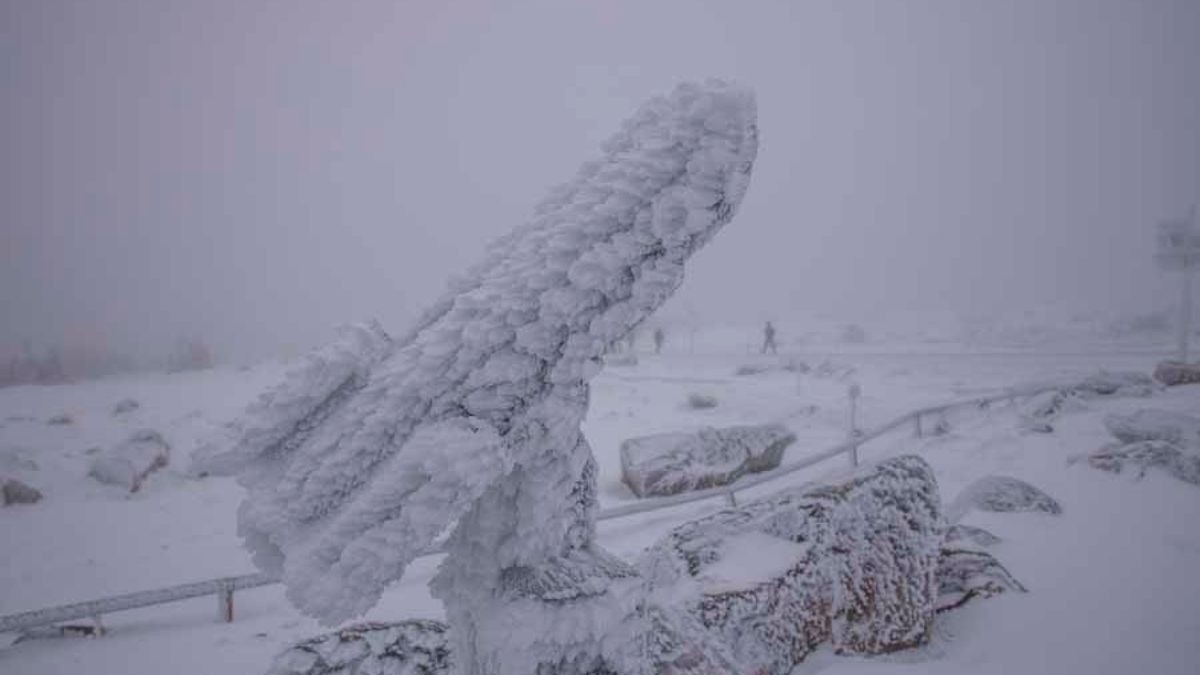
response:
<path id="1" fill-rule="evenodd" d="M 1200 1 L 0 0 L 0 344 L 392 330 L 646 97 L 758 94 L 680 301 L 1169 306 Z"/>

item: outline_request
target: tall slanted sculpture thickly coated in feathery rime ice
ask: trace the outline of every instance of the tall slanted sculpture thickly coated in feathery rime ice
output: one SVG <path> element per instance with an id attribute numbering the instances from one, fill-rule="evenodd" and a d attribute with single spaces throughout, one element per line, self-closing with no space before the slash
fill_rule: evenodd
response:
<path id="1" fill-rule="evenodd" d="M 594 542 L 588 380 L 733 217 L 756 151 L 750 91 L 682 84 L 408 335 L 352 327 L 310 354 L 200 453 L 248 489 L 256 565 L 332 625 L 449 531 L 432 590 L 460 673 L 638 670 L 637 593 L 616 590 L 635 573 Z"/>

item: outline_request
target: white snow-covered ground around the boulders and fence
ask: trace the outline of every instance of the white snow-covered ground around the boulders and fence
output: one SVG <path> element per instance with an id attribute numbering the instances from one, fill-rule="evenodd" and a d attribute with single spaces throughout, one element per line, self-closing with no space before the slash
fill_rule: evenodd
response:
<path id="1" fill-rule="evenodd" d="M 785 458 L 794 461 L 845 436 L 851 382 L 863 388 L 860 425 L 871 426 L 924 405 L 1100 368 L 1146 372 L 1162 356 L 979 353 L 958 345 L 925 345 L 922 353 L 912 345 L 881 342 L 840 354 L 802 353 L 786 333 L 781 336 L 782 346 L 794 351 L 791 356 L 745 356 L 751 329 L 726 341 L 724 353 L 689 354 L 684 346 L 668 344 L 661 357 L 641 353 L 638 365 L 611 366 L 598 376 L 584 430 L 600 464 L 602 506 L 635 500 L 619 482 L 618 446 L 630 436 L 784 422 L 799 438 Z M 701 342 L 704 339 L 721 336 L 702 336 Z M 779 368 L 790 359 L 814 370 Z M 816 368 L 827 360 L 830 368 Z M 769 368 L 738 375 L 744 365 Z M 281 372 L 282 365 L 266 364 L 0 389 L 0 474 L 46 495 L 34 506 L 0 509 L 0 614 L 251 572 L 235 532 L 241 490 L 229 479 L 188 476 L 187 460 L 199 438 L 234 417 Z M 692 410 L 686 399 L 694 393 L 713 395 L 718 405 Z M 140 406 L 114 416 L 113 406 L 128 398 Z M 966 518 L 1003 538 L 995 554 L 1028 595 L 979 602 L 940 617 L 936 639 L 923 650 L 876 659 L 821 655 L 798 671 L 1196 673 L 1200 489 L 1154 473 L 1138 482 L 1068 465 L 1069 456 L 1108 441 L 1104 414 L 1142 407 L 1200 412 L 1200 387 L 1150 399 L 1090 401 L 1050 435 L 1022 431 L 1018 416 L 998 407 L 956 414 L 946 436 L 896 434 L 866 446 L 865 460 L 920 453 L 937 471 L 947 500 L 974 478 L 1000 473 L 1046 490 L 1066 512 Z M 71 424 L 47 423 L 62 413 Z M 90 448 L 112 446 L 144 428 L 170 443 L 167 470 L 134 495 L 86 477 Z M 844 461 L 833 460 L 794 479 L 844 470 Z M 672 525 L 719 506 L 605 521 L 601 542 L 632 556 Z M 414 563 L 368 619 L 439 616 L 440 607 L 425 590 L 436 565 L 437 558 Z M 289 643 L 320 632 L 288 605 L 278 586 L 239 592 L 236 616 L 233 623 L 217 622 L 212 597 L 114 614 L 104 617 L 104 638 L 29 640 L 0 651 L 0 673 L 256 674 Z"/>

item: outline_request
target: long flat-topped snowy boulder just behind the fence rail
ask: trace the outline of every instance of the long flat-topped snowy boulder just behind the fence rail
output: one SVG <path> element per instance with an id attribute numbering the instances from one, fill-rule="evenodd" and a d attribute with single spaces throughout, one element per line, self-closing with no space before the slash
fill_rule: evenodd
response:
<path id="1" fill-rule="evenodd" d="M 793 441 L 781 424 L 640 436 L 620 444 L 620 476 L 638 497 L 726 485 L 775 468 Z"/>

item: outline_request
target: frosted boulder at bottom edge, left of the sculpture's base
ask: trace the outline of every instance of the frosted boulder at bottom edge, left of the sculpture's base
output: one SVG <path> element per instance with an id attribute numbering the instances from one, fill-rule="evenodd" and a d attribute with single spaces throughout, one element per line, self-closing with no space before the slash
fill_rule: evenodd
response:
<path id="1" fill-rule="evenodd" d="M 359 623 L 298 643 L 266 675 L 452 675 L 440 621 Z"/>

